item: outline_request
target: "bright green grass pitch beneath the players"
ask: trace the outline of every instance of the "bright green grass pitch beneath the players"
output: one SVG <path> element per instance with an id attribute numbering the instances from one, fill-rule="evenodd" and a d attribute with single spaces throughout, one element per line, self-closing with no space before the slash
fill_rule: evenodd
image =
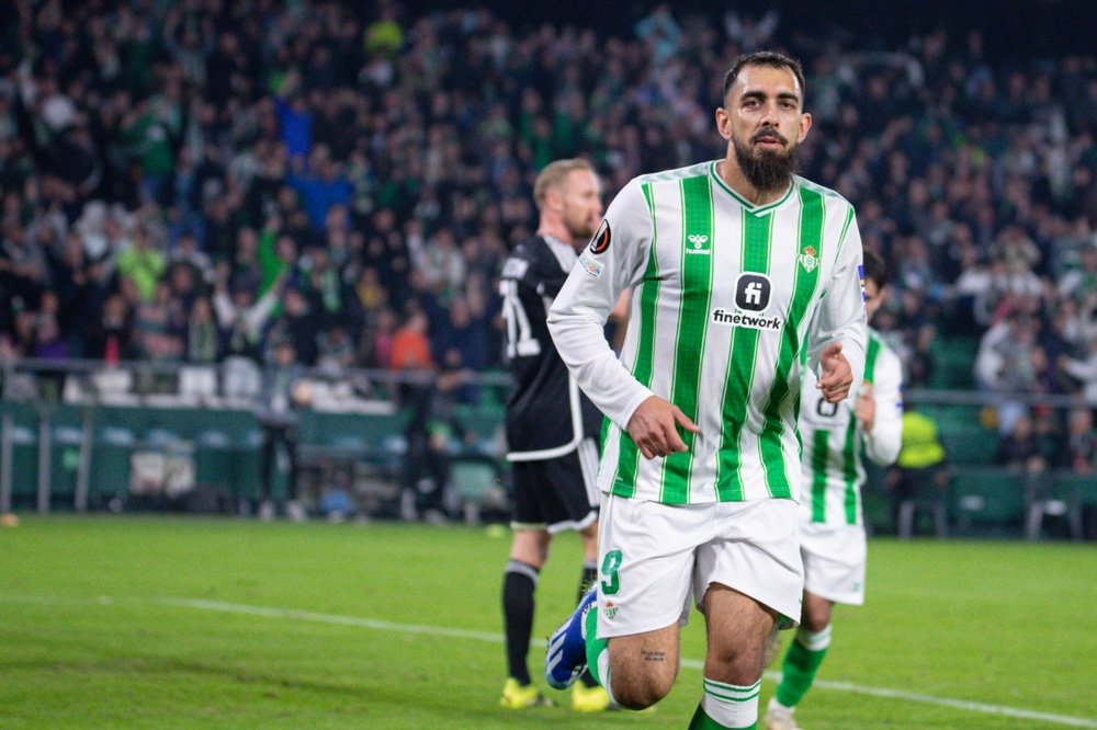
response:
<path id="1" fill-rule="evenodd" d="M 498 707 L 508 548 L 471 527 L 26 516 L 0 529 L 0 727 L 685 728 L 695 613 L 654 712 L 579 716 L 547 689 L 565 706 Z M 535 636 L 572 608 L 578 559 L 561 537 Z M 1092 544 L 878 539 L 868 586 L 836 613 L 805 727 L 1097 728 Z"/>

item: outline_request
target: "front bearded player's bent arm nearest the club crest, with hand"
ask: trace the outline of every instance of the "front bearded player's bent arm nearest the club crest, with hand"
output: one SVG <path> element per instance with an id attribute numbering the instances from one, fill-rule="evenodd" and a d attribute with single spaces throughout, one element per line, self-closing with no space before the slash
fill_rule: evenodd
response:
<path id="1" fill-rule="evenodd" d="M 852 376 L 849 392 L 857 392 L 864 373 L 864 290 L 861 285 L 861 235 L 856 220 L 849 221 L 838 246 L 834 273 L 826 282 L 826 293 L 808 332 L 807 365 L 818 374 L 824 396 L 833 379 L 828 370 L 835 363 L 835 344 L 841 345 L 838 356 L 849 364 Z"/>

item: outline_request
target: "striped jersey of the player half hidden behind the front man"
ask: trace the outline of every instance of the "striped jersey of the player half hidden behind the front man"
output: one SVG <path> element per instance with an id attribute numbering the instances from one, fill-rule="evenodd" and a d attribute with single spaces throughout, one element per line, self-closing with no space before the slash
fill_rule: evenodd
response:
<path id="1" fill-rule="evenodd" d="M 875 412 L 866 432 L 853 415 L 852 397 L 837 404 L 823 400 L 814 374 L 804 373 L 800 433 L 804 479 L 800 514 L 805 522 L 860 525 L 864 459 L 890 466 L 903 437 L 903 367 L 898 355 L 869 330 L 866 384 L 872 385 Z M 863 387 L 863 386 L 862 386 Z"/>

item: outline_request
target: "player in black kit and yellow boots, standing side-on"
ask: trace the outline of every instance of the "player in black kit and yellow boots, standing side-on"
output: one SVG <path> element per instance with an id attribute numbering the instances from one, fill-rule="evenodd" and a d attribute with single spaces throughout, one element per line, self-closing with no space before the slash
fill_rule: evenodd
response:
<path id="1" fill-rule="evenodd" d="M 579 596 L 595 581 L 598 539 L 595 436 L 601 419 L 556 354 L 545 316 L 601 219 L 601 189 L 586 160 L 557 160 L 538 175 L 533 198 L 540 212 L 536 236 L 513 250 L 499 285 L 514 380 L 507 399 L 513 541 L 502 578 L 509 677 L 499 699 L 511 709 L 545 702 L 530 680 L 525 658 L 534 592 L 553 536 L 567 529 L 579 533 Z M 608 706 L 609 696 L 589 674 L 572 691 L 573 709 L 599 711 Z"/>

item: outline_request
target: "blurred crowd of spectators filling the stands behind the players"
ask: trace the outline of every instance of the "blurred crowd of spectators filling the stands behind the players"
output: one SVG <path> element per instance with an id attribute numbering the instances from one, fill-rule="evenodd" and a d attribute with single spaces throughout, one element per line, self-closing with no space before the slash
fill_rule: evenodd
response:
<path id="1" fill-rule="evenodd" d="M 392 0 L 3 3 L 0 357 L 290 340 L 307 366 L 500 366 L 536 171 L 589 158 L 609 199 L 719 156 L 723 71 L 781 23 L 644 12 L 610 36 Z M 1097 59 L 785 37 L 816 127 L 800 167 L 897 272 L 880 323 L 908 385 L 935 339 L 981 338 L 979 387 L 1097 406 Z"/>

